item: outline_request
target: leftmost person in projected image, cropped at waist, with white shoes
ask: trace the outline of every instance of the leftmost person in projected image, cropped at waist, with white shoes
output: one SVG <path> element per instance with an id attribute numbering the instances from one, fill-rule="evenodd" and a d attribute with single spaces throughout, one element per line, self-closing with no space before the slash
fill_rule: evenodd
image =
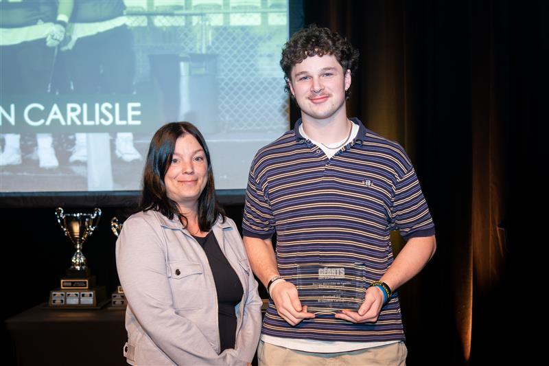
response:
<path id="1" fill-rule="evenodd" d="M 56 47 L 65 36 L 72 11 L 71 1 L 0 0 L 0 94 L 43 95 L 53 82 Z M 21 134 L 2 135 L 0 166 L 20 165 Z M 36 134 L 31 155 L 43 169 L 55 169 L 59 161 L 51 133 Z"/>

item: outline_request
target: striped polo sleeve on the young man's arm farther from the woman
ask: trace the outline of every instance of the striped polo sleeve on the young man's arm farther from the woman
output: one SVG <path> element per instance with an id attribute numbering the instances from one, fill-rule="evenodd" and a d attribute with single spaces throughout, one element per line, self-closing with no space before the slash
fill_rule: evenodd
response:
<path id="1" fill-rule="evenodd" d="M 397 179 L 391 218 L 405 240 L 434 235 L 434 223 L 412 165 Z"/>

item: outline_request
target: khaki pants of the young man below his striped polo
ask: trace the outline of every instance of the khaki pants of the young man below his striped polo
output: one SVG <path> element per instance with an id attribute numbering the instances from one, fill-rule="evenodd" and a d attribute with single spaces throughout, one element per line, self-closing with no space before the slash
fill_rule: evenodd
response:
<path id="1" fill-rule="evenodd" d="M 366 348 L 351 352 L 313 353 L 290 350 L 259 341 L 257 360 L 259 366 L 320 366 L 320 365 L 406 365 L 408 350 L 404 342 Z"/>

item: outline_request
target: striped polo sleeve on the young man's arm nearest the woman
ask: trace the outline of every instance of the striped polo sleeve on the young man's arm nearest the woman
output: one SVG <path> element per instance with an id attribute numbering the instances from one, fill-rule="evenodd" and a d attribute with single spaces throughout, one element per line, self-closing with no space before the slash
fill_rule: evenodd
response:
<path id="1" fill-rule="evenodd" d="M 250 169 L 246 188 L 246 205 L 242 218 L 242 233 L 250 238 L 268 239 L 274 234 L 274 217 L 270 202 L 256 179 L 255 170 Z"/>

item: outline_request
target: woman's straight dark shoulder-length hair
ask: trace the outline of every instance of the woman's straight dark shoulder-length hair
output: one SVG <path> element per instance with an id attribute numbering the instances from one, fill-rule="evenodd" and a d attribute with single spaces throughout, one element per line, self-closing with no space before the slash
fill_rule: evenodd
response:
<path id="1" fill-rule="evenodd" d="M 224 211 L 218 203 L 215 195 L 215 183 L 213 182 L 213 170 L 211 169 L 210 152 L 202 134 L 189 122 L 172 122 L 165 124 L 156 131 L 150 141 L 147 161 L 143 169 L 143 191 L 139 209 L 148 211 L 153 209 L 172 220 L 178 216 L 183 226 L 187 226 L 187 218 L 180 214 L 175 201 L 168 198 L 164 176 L 174 155 L 176 141 L 179 137 L 189 134 L 193 136 L 206 155 L 208 163 L 208 181 L 206 187 L 198 197 L 198 226 L 200 231 L 209 231 L 218 216 L 224 220 Z"/>

